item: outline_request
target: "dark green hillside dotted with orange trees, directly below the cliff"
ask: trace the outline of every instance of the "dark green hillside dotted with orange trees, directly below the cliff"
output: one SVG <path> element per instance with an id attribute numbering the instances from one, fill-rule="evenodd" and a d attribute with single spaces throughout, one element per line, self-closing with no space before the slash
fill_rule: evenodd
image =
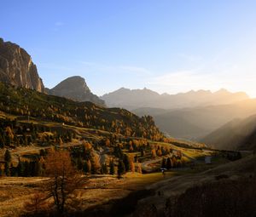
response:
<path id="1" fill-rule="evenodd" d="M 97 128 L 135 137 L 161 140 L 152 117 L 137 117 L 125 109 L 108 109 L 0 83 L 0 111 L 27 119 Z"/>

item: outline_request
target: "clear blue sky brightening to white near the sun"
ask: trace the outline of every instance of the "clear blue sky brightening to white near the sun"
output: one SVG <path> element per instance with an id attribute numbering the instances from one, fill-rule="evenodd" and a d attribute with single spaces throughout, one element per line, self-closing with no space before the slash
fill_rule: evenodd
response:
<path id="1" fill-rule="evenodd" d="M 254 0 L 1 0 L 0 37 L 31 54 L 53 88 L 84 77 L 121 87 L 256 97 Z"/>

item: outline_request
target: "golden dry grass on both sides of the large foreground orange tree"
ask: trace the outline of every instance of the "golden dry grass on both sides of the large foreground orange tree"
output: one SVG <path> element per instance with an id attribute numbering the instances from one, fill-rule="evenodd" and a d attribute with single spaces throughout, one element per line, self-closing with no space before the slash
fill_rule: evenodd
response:
<path id="1" fill-rule="evenodd" d="M 172 177 L 166 174 L 125 174 L 122 179 L 112 175 L 94 175 L 84 179 L 84 187 L 76 191 L 79 208 L 84 210 L 91 206 L 108 203 L 113 199 L 126 197 L 131 191 L 143 189 L 156 181 Z M 84 177 L 85 178 L 85 177 Z M 38 191 L 38 186 L 47 178 L 40 177 L 3 177 L 0 179 L 0 216 L 19 216 L 23 204 Z"/>

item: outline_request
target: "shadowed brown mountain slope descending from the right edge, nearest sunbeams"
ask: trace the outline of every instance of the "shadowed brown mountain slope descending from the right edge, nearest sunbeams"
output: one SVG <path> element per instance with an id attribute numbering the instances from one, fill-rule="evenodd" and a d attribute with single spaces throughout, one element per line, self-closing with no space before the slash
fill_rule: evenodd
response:
<path id="1" fill-rule="evenodd" d="M 256 148 L 256 115 L 234 119 L 208 134 L 201 142 L 217 149 L 254 150 Z"/>

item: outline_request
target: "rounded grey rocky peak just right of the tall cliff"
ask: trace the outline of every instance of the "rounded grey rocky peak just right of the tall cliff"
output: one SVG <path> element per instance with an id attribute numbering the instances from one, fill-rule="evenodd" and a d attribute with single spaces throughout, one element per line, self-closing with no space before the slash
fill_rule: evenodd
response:
<path id="1" fill-rule="evenodd" d="M 71 100 L 83 102 L 90 101 L 99 106 L 105 106 L 103 100 L 92 94 L 83 77 L 68 77 L 53 89 L 47 89 L 48 94 L 66 97 Z"/>

